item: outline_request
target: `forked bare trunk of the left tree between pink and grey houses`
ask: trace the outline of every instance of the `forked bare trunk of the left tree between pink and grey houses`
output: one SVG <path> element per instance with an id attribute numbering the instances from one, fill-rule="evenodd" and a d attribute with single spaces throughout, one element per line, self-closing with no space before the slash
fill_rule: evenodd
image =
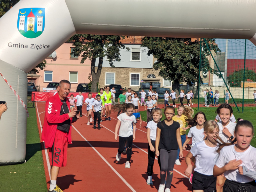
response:
<path id="1" fill-rule="evenodd" d="M 99 58 L 97 73 L 95 72 L 95 61 L 96 61 L 96 59 L 93 59 L 92 63 L 91 63 L 91 74 L 92 74 L 91 92 L 92 93 L 97 93 L 98 92 L 97 83 L 99 82 L 99 77 L 100 77 L 100 74 L 101 74 L 103 57 Z"/>

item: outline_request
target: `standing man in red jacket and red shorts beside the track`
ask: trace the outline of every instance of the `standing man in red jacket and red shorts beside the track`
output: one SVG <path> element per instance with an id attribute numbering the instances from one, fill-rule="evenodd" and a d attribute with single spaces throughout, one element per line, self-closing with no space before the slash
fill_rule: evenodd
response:
<path id="1" fill-rule="evenodd" d="M 42 140 L 49 148 L 51 163 L 51 184 L 49 192 L 63 192 L 56 180 L 59 168 L 67 164 L 68 144 L 71 140 L 71 123 L 80 118 L 76 110 L 70 111 L 70 102 L 67 98 L 71 84 L 68 80 L 61 80 L 57 88 L 58 93 L 50 97 L 45 105 L 45 117 Z M 76 116 L 76 119 L 75 119 Z M 74 117 L 74 120 L 73 120 Z"/>

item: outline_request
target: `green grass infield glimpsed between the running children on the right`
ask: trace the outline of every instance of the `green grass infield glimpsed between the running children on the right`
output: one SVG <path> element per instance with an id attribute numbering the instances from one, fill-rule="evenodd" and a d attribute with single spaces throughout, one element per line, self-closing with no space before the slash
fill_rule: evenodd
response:
<path id="1" fill-rule="evenodd" d="M 142 107 L 144 107 L 144 106 L 142 106 Z M 236 119 L 240 117 L 240 118 L 242 118 L 244 120 L 250 121 L 252 123 L 253 127 L 255 128 L 256 127 L 255 114 L 250 112 L 246 108 L 247 107 L 245 107 L 245 112 L 244 113 L 239 113 L 236 110 L 234 110 L 234 116 L 235 116 Z M 197 108 L 192 108 L 192 109 L 194 110 L 194 115 L 195 115 L 198 112 Z M 217 109 L 217 107 L 208 107 L 208 108 L 205 107 L 205 108 L 200 108 L 200 111 L 203 111 L 203 113 L 205 113 L 205 116 L 206 116 L 207 120 L 214 120 L 216 115 L 217 115 L 215 113 L 216 109 Z M 164 111 L 164 109 L 162 109 L 162 111 Z M 147 112 L 146 111 L 142 111 L 142 112 L 140 112 L 140 114 L 141 114 L 142 120 L 143 121 L 147 121 Z M 175 111 L 175 114 L 177 114 L 177 110 Z M 164 118 L 165 118 L 165 116 L 163 114 L 162 119 L 164 119 Z M 189 131 L 189 129 L 187 130 L 187 134 L 188 134 L 188 131 Z M 253 147 L 256 147 L 256 138 L 255 138 L 255 136 L 253 136 L 253 139 L 251 141 L 251 145 Z"/>

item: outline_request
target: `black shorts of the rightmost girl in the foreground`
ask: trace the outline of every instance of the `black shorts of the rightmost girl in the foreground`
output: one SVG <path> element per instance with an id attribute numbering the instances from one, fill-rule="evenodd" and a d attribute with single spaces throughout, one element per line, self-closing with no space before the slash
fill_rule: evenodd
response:
<path id="1" fill-rule="evenodd" d="M 256 191 L 256 183 L 255 181 L 249 183 L 237 183 L 234 181 L 226 180 L 223 186 L 223 192 L 236 192 L 239 191 L 247 191 L 247 192 L 254 192 Z"/>

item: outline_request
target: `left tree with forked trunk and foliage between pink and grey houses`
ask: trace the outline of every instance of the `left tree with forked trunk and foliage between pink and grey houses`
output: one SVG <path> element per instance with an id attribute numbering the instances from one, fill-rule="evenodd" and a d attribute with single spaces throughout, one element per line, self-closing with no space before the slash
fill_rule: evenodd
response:
<path id="1" fill-rule="evenodd" d="M 125 36 L 116 35 L 88 35 L 88 34 L 75 34 L 69 39 L 70 42 L 74 42 L 75 48 L 71 54 L 74 56 L 82 57 L 81 63 L 84 63 L 86 59 L 91 61 L 91 92 L 97 91 L 97 83 L 101 74 L 102 63 L 104 57 L 108 57 L 109 65 L 115 67 L 113 61 L 121 61 L 120 49 L 130 50 L 125 47 L 120 40 Z M 99 58 L 97 71 L 95 70 L 96 59 Z"/>

